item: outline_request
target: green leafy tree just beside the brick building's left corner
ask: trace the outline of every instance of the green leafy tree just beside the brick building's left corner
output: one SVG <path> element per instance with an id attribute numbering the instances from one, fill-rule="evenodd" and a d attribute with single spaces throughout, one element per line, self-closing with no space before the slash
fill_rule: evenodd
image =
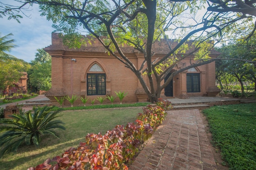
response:
<path id="1" fill-rule="evenodd" d="M 52 60 L 51 56 L 43 50 L 37 49 L 36 58 L 31 61 L 28 71 L 29 89 L 32 92 L 49 90 L 52 87 Z"/>

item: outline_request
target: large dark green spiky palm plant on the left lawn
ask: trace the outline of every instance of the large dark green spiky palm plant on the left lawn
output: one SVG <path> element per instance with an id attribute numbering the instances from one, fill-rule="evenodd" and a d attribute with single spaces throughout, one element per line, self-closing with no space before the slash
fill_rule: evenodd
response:
<path id="1" fill-rule="evenodd" d="M 24 114 L 13 114 L 11 118 L 0 119 L 0 157 L 7 151 L 16 152 L 21 144 L 39 146 L 41 135 L 55 135 L 53 129 L 65 127 L 61 120 L 54 120 L 59 117 L 61 109 L 54 107 L 34 107 L 32 111 Z M 58 138 L 58 137 L 57 137 Z"/>

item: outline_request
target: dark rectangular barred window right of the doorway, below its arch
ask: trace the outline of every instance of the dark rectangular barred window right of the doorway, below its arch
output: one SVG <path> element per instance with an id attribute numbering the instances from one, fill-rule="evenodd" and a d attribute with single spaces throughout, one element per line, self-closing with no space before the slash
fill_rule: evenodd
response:
<path id="1" fill-rule="evenodd" d="M 199 73 L 186 74 L 186 91 L 188 93 L 200 92 L 200 74 Z"/>

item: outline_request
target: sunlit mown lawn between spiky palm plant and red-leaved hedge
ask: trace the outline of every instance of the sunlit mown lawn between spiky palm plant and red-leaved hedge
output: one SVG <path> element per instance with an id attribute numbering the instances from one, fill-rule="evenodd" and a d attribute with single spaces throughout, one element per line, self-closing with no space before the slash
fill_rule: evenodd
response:
<path id="1" fill-rule="evenodd" d="M 38 148 L 20 147 L 16 154 L 9 153 L 0 159 L 0 169 L 24 170 L 36 166 L 48 158 L 61 155 L 70 147 L 78 146 L 88 133 L 106 133 L 117 124 L 134 122 L 139 112 L 142 112 L 142 107 L 63 111 L 59 119 L 65 122 L 66 130 L 57 131 L 59 139 L 44 136 Z"/>

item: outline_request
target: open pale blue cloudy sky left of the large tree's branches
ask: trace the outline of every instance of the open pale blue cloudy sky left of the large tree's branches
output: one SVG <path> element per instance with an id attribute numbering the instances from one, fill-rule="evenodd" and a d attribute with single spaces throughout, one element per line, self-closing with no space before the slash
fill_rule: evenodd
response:
<path id="1" fill-rule="evenodd" d="M 0 0 L 8 2 L 9 0 Z M 52 44 L 51 34 L 54 31 L 52 21 L 47 21 L 46 17 L 40 16 L 38 6 L 33 5 L 31 11 L 26 11 L 26 15 L 20 19 L 21 23 L 16 20 L 7 20 L 7 17 L 0 18 L 1 37 L 12 33 L 11 39 L 14 39 L 17 46 L 7 52 L 18 59 L 30 62 L 35 59 L 36 49 L 45 48 Z"/>

